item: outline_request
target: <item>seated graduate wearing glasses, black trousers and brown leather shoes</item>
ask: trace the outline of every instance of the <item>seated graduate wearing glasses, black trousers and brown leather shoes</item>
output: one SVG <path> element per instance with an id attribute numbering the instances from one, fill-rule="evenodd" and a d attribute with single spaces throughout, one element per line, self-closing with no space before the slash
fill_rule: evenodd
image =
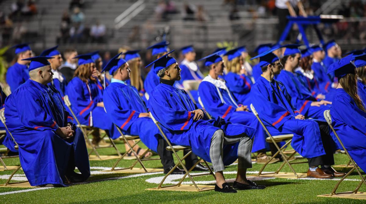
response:
<path id="1" fill-rule="evenodd" d="M 287 88 L 273 79 L 281 71 L 282 65 L 272 51 L 257 56 L 260 57 L 259 65 L 263 73 L 250 91 L 255 110 L 272 135 L 294 134 L 291 146 L 308 159 L 307 176 L 331 178 L 345 175 L 331 167 L 334 165 L 336 145 L 329 135 L 328 124 L 305 119 L 292 105 Z M 321 168 L 318 168 L 319 165 Z"/>

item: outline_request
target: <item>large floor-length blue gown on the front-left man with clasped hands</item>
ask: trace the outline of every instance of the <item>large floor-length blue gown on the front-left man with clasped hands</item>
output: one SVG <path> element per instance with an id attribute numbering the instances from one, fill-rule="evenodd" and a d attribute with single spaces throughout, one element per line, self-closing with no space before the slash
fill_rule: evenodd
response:
<path id="1" fill-rule="evenodd" d="M 20 164 L 30 185 L 64 185 L 62 180 L 72 148 L 75 166 L 85 178 L 90 176 L 81 130 L 74 125 L 74 137 L 68 140 L 55 132 L 59 126 L 73 124 L 74 119 L 65 110 L 54 87 L 27 80 L 6 99 L 5 117 L 19 145 Z"/>

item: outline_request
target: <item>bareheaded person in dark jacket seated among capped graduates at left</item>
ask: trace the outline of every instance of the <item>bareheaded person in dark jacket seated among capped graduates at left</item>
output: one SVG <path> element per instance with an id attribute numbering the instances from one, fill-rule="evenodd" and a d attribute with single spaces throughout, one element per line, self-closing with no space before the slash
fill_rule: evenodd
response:
<path id="1" fill-rule="evenodd" d="M 75 49 L 67 49 L 64 52 L 65 63 L 59 67 L 60 72 L 64 75 L 67 82 L 70 82 L 74 76 L 75 69 L 78 66 L 78 60 L 75 59 L 78 55 Z"/>

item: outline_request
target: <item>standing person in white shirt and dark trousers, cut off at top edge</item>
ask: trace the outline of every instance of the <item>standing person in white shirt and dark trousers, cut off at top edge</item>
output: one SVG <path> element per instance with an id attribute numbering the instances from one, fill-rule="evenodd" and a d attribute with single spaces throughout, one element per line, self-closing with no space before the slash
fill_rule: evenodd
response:
<path id="1" fill-rule="evenodd" d="M 278 24 L 278 38 L 281 36 L 287 24 L 287 16 L 296 16 L 294 7 L 298 7 L 299 15 L 306 17 L 307 14 L 301 3 L 301 0 L 276 0 Z"/>

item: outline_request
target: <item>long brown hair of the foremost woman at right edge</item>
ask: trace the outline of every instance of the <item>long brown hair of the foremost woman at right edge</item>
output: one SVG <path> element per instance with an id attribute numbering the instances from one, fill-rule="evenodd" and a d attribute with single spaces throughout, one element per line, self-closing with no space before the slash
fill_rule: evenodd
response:
<path id="1" fill-rule="evenodd" d="M 366 112 L 361 98 L 357 94 L 357 75 L 355 73 L 348 73 L 346 76 L 338 79 L 338 81 L 343 87 L 344 91 L 346 91 L 347 94 L 355 100 L 357 107 L 363 112 Z"/>

